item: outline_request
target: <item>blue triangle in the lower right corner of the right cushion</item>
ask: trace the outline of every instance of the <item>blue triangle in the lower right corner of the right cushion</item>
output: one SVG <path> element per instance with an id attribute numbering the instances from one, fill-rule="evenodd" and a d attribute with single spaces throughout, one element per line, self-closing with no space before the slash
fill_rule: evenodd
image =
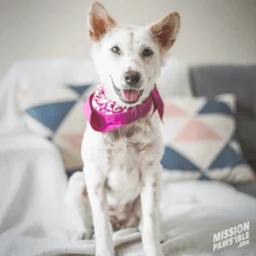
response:
<path id="1" fill-rule="evenodd" d="M 230 148 L 227 144 L 222 151 L 217 155 L 215 160 L 212 161 L 212 165 L 209 169 L 224 168 L 229 166 L 237 166 L 243 162 L 241 155 L 237 154 L 236 151 Z"/>

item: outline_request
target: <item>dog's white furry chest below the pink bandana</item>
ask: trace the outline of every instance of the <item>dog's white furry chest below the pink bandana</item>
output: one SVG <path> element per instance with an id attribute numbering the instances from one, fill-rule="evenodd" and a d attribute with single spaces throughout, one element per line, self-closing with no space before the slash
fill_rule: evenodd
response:
<path id="1" fill-rule="evenodd" d="M 134 200 L 141 189 L 144 166 L 154 158 L 156 135 L 151 119 L 142 119 L 104 136 L 109 195 Z"/>

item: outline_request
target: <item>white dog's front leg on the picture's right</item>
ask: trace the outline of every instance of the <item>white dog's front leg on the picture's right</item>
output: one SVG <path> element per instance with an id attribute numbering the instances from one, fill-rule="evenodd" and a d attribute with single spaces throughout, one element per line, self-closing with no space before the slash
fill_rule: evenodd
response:
<path id="1" fill-rule="evenodd" d="M 143 170 L 141 192 L 143 210 L 143 248 L 146 256 L 163 256 L 160 248 L 159 190 L 162 167 L 160 164 Z"/>

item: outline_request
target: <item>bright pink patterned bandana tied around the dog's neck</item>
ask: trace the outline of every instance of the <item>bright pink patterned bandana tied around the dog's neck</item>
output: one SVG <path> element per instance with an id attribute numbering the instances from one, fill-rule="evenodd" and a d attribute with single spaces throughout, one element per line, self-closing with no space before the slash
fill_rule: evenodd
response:
<path id="1" fill-rule="evenodd" d="M 102 85 L 99 84 L 96 92 L 90 95 L 84 103 L 84 114 L 93 130 L 113 131 L 145 116 L 150 111 L 152 104 L 154 106 L 153 113 L 157 110 L 160 119 L 163 119 L 164 103 L 156 86 L 142 104 L 126 107 L 111 101 Z"/>

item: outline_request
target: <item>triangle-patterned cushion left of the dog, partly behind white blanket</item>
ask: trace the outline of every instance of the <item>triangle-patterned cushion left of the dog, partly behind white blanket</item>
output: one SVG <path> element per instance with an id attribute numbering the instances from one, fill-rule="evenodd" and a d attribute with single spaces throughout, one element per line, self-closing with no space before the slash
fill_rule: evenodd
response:
<path id="1" fill-rule="evenodd" d="M 67 172 L 82 170 L 80 157 L 86 127 L 83 104 L 90 84 L 67 85 L 56 89 L 22 91 L 20 111 L 26 127 L 42 134 L 59 148 Z"/>

